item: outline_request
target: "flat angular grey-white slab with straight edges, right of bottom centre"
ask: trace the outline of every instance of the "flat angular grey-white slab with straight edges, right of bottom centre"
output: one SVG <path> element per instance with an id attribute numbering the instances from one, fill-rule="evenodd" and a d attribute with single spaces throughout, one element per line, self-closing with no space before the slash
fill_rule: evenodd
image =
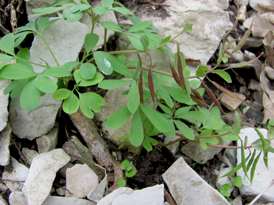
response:
<path id="1" fill-rule="evenodd" d="M 178 205 L 230 204 L 222 194 L 191 169 L 183 158 L 177 159 L 162 176 Z"/>

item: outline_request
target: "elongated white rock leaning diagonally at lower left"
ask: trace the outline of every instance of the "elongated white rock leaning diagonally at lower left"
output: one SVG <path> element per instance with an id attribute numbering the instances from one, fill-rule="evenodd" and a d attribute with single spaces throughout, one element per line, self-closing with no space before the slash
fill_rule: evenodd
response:
<path id="1" fill-rule="evenodd" d="M 56 172 L 70 160 L 64 150 L 54 149 L 33 158 L 23 193 L 29 205 L 42 204 L 51 191 Z"/>

